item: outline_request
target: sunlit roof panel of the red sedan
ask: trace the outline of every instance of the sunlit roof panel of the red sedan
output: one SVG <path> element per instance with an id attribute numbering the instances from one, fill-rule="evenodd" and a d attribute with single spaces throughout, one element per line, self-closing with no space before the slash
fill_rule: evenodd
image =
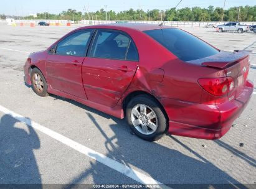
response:
<path id="1" fill-rule="evenodd" d="M 134 29 L 134 30 L 154 30 L 154 29 L 165 29 L 173 28 L 167 25 L 159 26 L 158 24 L 142 24 L 142 23 L 113 23 L 113 24 L 99 24 L 90 25 L 82 28 L 102 28 L 102 29 Z"/>

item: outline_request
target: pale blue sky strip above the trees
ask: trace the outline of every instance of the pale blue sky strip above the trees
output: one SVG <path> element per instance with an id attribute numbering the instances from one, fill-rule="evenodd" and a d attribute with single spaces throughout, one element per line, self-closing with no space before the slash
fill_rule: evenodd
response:
<path id="1" fill-rule="evenodd" d="M 107 5 L 107 11 L 113 10 L 120 12 L 123 10 L 143 9 L 160 9 L 166 10 L 175 7 L 180 0 L 0 0 L 0 14 L 15 15 L 15 16 L 26 16 L 37 12 L 50 12 L 59 14 L 67 9 L 76 9 L 77 11 L 85 12 L 84 7 L 89 11 L 98 11 L 101 8 L 105 8 Z M 215 1 L 199 1 L 199 0 L 183 0 L 177 7 L 178 9 L 183 7 L 223 7 L 224 0 Z M 255 6 L 256 0 L 226 0 L 225 9 L 233 6 Z"/>

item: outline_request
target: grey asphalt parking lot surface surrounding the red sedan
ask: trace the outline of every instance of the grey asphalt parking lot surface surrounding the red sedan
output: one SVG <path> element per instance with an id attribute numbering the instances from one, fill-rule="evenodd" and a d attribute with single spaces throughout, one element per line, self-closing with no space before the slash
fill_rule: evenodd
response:
<path id="1" fill-rule="evenodd" d="M 0 25 L 0 184 L 255 187 L 256 88 L 249 106 L 219 140 L 164 136 L 146 142 L 130 132 L 125 120 L 58 96 L 41 98 L 24 85 L 29 53 L 44 50 L 76 27 Z M 255 34 L 185 30 L 222 50 L 251 50 L 249 78 L 256 83 Z"/>

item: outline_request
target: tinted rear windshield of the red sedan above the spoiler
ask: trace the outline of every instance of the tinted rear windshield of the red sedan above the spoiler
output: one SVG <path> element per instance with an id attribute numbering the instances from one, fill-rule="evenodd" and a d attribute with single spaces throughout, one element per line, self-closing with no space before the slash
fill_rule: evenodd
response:
<path id="1" fill-rule="evenodd" d="M 180 29 L 146 30 L 145 33 L 183 61 L 196 60 L 219 53 L 216 48 Z"/>

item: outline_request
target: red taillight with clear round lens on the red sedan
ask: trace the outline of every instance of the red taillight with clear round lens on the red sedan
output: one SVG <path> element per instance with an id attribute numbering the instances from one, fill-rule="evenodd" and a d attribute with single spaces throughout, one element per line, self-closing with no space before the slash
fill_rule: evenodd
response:
<path id="1" fill-rule="evenodd" d="M 232 77 L 201 78 L 198 80 L 198 83 L 204 90 L 215 96 L 223 96 L 232 91 L 235 86 Z"/>

